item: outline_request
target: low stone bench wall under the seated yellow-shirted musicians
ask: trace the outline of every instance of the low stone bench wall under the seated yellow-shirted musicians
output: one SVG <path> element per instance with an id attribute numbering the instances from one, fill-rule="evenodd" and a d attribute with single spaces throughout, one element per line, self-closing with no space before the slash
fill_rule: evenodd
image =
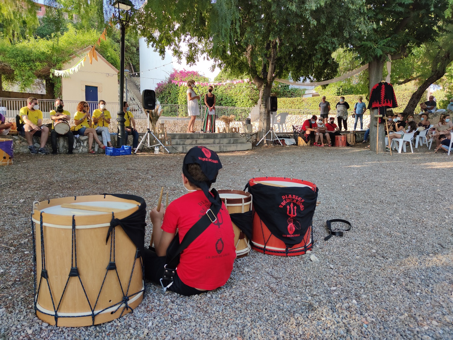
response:
<path id="1" fill-rule="evenodd" d="M 139 133 L 139 142 L 141 140 L 141 136 L 143 136 L 144 133 Z M 30 153 L 28 149 L 28 143 L 25 137 L 20 136 L 20 135 L 7 135 L 3 136 L 5 138 L 10 138 L 13 140 L 13 149 L 15 154 L 28 154 Z M 98 137 L 100 137 L 98 135 Z M 111 133 L 110 134 L 111 142 L 114 146 L 116 146 L 116 141 L 117 141 L 117 135 L 116 133 Z M 99 138 L 101 140 L 101 138 Z M 34 146 L 38 149 L 39 148 L 39 137 L 34 136 L 33 137 L 33 144 Z M 88 136 L 79 136 L 76 135 L 74 136 L 74 148 L 72 150 L 73 153 L 87 153 L 88 152 Z M 145 144 L 145 143 L 144 143 Z M 132 145 L 132 136 L 128 136 L 127 139 L 127 145 Z M 147 146 L 147 141 L 144 149 L 148 150 Z M 52 152 L 52 144 L 50 143 L 50 135 L 49 138 L 47 139 L 45 149 L 50 153 Z M 143 149 L 143 148 L 142 148 Z M 57 139 L 57 150 L 58 153 L 65 154 L 67 152 L 67 138 L 66 137 L 58 137 Z M 93 150 L 96 151 L 96 153 L 105 153 L 104 149 L 101 149 L 95 141 L 93 141 Z"/>

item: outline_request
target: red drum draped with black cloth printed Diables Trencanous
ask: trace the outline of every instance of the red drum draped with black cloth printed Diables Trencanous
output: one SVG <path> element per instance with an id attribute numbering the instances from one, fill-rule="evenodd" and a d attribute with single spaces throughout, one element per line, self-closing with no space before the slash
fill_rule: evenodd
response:
<path id="1" fill-rule="evenodd" d="M 313 214 L 318 188 L 304 180 L 252 178 L 252 248 L 260 253 L 302 255 L 313 247 Z"/>

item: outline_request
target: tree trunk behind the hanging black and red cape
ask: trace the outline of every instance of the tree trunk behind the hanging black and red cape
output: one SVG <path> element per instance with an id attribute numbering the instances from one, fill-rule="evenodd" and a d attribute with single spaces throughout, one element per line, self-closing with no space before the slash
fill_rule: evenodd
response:
<path id="1" fill-rule="evenodd" d="M 371 94 L 371 88 L 375 86 L 382 80 L 382 69 L 384 68 L 384 62 L 379 59 L 373 59 L 368 64 L 368 88 L 369 94 Z M 378 133 L 377 129 L 377 122 L 378 119 L 375 118 L 375 115 L 378 114 L 377 109 L 370 110 L 370 150 L 373 152 L 386 152 L 386 125 L 379 124 L 379 140 L 376 141 L 376 136 Z"/>

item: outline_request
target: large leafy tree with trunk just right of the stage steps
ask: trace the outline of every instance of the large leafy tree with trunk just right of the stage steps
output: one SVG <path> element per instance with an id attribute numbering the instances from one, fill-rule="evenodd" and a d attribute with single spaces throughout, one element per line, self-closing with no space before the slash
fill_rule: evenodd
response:
<path id="1" fill-rule="evenodd" d="M 160 55 L 169 47 L 188 63 L 207 54 L 213 63 L 245 73 L 260 93 L 259 137 L 270 128 L 266 106 L 275 78 L 325 79 L 331 54 L 366 29 L 361 0 L 149 0 L 137 13 L 140 34 Z M 347 18 L 347 19 L 345 19 Z"/>

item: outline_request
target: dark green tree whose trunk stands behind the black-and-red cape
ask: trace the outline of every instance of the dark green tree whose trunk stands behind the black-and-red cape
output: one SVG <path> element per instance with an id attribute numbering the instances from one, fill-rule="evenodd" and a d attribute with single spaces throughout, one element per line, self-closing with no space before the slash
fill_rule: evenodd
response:
<path id="1" fill-rule="evenodd" d="M 421 44 L 434 40 L 445 25 L 444 2 L 432 0 L 366 0 L 366 16 L 371 29 L 366 34 L 356 32 L 350 36 L 349 44 L 358 53 L 362 63 L 368 63 L 371 88 L 379 83 L 387 54 L 391 59 L 408 55 Z M 371 112 L 373 114 L 373 112 Z M 385 152 L 384 129 L 380 130 L 379 145 L 376 145 L 376 119 L 371 117 L 371 150 Z"/>

